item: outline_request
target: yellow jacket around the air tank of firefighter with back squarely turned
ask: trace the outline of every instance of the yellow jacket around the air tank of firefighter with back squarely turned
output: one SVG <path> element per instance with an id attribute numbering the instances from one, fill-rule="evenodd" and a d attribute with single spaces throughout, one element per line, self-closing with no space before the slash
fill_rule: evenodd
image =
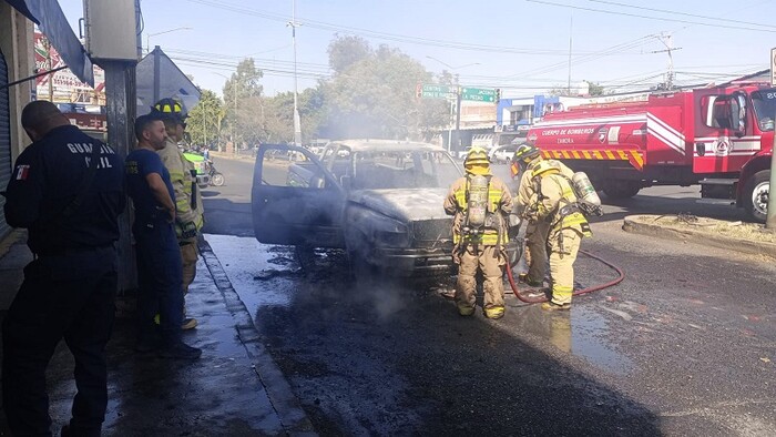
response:
<path id="1" fill-rule="evenodd" d="M 509 187 L 500 179 L 491 176 L 488 186 L 488 212 L 493 215 L 496 228 L 487 228 L 480 235 L 461 235 L 461 227 L 466 220 L 468 209 L 467 204 L 467 177 L 460 177 L 450 186 L 450 192 L 445 199 L 445 212 L 452 215 L 452 241 L 456 248 L 460 247 L 460 243 L 481 244 L 486 246 L 496 246 L 506 244 L 509 240 L 507 235 L 506 214 L 512 211 L 512 194 Z M 501 241 L 499 241 L 501 235 Z M 456 251 L 457 252 L 457 251 Z"/>

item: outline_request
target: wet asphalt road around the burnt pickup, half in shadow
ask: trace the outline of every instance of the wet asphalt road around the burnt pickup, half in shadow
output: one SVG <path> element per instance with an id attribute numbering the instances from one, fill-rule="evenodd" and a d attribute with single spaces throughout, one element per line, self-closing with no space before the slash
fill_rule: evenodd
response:
<path id="1" fill-rule="evenodd" d="M 457 315 L 430 284 L 354 283 L 341 253 L 302 270 L 251 236 L 252 163 L 216 159 L 206 232 L 265 345 L 321 435 L 776 435 L 776 265 L 624 233 L 633 213 L 690 212 L 697 187 L 606 205 L 583 248 L 625 281 L 543 314 Z M 501 172 L 503 170 L 499 170 Z M 497 172 L 498 174 L 498 172 Z M 612 278 L 581 256 L 581 286 Z"/>

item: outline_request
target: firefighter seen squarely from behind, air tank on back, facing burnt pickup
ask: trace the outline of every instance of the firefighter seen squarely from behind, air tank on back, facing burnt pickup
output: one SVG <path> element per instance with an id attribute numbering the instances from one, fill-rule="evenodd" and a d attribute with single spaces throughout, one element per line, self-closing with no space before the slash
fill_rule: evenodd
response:
<path id="1" fill-rule="evenodd" d="M 484 149 L 472 148 L 463 167 L 466 176 L 453 182 L 445 200 L 445 212 L 453 215 L 452 260 L 458 264 L 456 304 L 462 316 L 474 313 L 479 268 L 484 276 L 484 315 L 500 318 L 504 314 L 506 215 L 512 211 L 512 196 L 507 185 L 491 174 Z"/>

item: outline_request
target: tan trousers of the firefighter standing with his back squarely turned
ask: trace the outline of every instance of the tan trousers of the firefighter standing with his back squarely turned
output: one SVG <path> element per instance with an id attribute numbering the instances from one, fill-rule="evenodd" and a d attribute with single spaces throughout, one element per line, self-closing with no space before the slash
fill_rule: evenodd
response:
<path id="1" fill-rule="evenodd" d="M 482 291 L 484 308 L 504 306 L 503 266 L 507 262 L 497 246 L 468 244 L 462 251 L 456 283 L 456 304 L 459 308 L 476 306 L 477 270 L 484 276 Z"/>

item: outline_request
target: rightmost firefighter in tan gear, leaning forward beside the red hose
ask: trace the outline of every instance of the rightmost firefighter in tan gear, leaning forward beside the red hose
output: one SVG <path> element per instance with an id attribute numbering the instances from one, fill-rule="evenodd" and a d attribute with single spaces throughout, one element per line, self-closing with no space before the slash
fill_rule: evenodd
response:
<path id="1" fill-rule="evenodd" d="M 570 309 L 574 291 L 574 261 L 583 237 L 591 236 L 590 224 L 576 206 L 572 182 L 552 162 L 540 162 L 531 172 L 533 193 L 524 216 L 547 222 L 552 297 L 543 309 Z"/>

